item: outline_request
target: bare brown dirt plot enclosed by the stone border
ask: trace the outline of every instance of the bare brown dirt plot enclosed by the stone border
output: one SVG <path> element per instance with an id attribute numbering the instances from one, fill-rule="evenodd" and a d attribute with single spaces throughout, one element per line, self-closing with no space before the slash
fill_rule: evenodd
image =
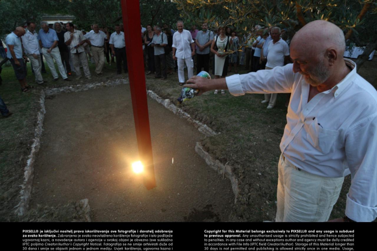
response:
<path id="1" fill-rule="evenodd" d="M 229 220 L 230 181 L 195 152 L 204 136 L 148 104 L 157 184 L 150 191 L 130 170 L 138 152 L 128 84 L 46 99 L 30 207 L 88 198 L 92 221 Z"/>

